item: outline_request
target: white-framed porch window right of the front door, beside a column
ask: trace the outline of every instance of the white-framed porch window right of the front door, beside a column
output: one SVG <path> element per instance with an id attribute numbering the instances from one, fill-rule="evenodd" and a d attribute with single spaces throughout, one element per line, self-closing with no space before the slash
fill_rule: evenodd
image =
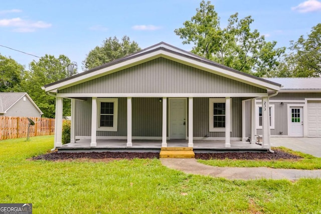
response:
<path id="1" fill-rule="evenodd" d="M 209 100 L 209 131 L 225 131 L 225 98 L 210 98 Z M 232 102 L 230 102 L 232 103 Z M 230 106 L 231 107 L 231 106 Z M 232 109 L 232 108 L 230 108 Z M 231 113 L 231 111 L 230 111 Z M 230 117 L 232 118 L 232 117 Z M 231 123 L 230 123 L 231 124 Z"/>

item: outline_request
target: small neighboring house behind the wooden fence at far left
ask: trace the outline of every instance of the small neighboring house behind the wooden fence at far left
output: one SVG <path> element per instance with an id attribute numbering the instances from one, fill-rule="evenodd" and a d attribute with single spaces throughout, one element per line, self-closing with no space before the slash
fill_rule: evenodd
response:
<path id="1" fill-rule="evenodd" d="M 0 117 L 41 117 L 42 111 L 26 92 L 1 92 Z"/>

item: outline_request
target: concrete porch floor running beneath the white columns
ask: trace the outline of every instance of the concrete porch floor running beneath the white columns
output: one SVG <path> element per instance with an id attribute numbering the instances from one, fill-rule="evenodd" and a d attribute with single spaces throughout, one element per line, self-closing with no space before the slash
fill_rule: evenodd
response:
<path id="1" fill-rule="evenodd" d="M 127 152 L 159 152 L 162 140 L 132 140 L 132 147 L 127 147 L 126 140 L 108 139 L 97 140 L 96 147 L 90 147 L 90 140 L 77 140 L 58 148 L 59 152 L 99 152 L 99 151 L 127 151 Z M 187 147 L 188 140 L 168 140 L 168 147 Z M 250 144 L 247 141 L 231 141 L 231 148 L 225 148 L 224 140 L 194 140 L 195 152 L 228 152 L 228 151 L 267 151 L 261 145 Z"/>

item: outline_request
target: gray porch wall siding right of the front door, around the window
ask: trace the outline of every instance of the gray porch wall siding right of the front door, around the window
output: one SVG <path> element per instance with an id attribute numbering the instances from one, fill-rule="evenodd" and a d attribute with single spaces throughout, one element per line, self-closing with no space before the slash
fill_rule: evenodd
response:
<path id="1" fill-rule="evenodd" d="M 193 134 L 195 137 L 225 137 L 225 132 L 209 132 L 209 98 L 194 98 Z M 231 137 L 242 137 L 242 102 L 241 98 L 232 98 Z"/>

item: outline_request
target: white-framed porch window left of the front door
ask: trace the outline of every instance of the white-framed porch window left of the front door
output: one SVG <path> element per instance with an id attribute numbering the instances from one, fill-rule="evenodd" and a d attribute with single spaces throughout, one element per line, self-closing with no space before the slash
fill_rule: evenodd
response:
<path id="1" fill-rule="evenodd" d="M 97 98 L 97 131 L 117 131 L 117 117 L 117 98 Z"/>

